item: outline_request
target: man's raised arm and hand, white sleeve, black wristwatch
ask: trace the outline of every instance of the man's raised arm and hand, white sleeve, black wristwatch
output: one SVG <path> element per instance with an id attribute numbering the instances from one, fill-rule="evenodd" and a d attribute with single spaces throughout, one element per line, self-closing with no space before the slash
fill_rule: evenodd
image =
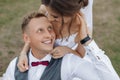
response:
<path id="1" fill-rule="evenodd" d="M 78 15 L 79 16 L 79 15 Z M 85 25 L 84 19 L 80 17 L 80 21 L 81 21 L 81 28 L 80 28 L 80 41 L 84 40 L 84 43 L 81 43 L 84 48 L 86 53 L 89 55 L 89 59 L 91 59 L 92 63 L 94 64 L 96 70 L 98 71 L 98 73 L 100 73 L 100 75 L 102 75 L 102 73 L 104 73 L 102 76 L 104 76 L 103 78 L 107 77 L 106 74 L 112 75 L 116 80 L 119 80 L 119 76 L 117 75 L 116 71 L 114 70 L 110 59 L 107 57 L 107 55 L 104 54 L 104 51 L 102 51 L 97 44 L 94 42 L 94 40 L 92 40 L 89 37 L 89 32 L 88 32 L 88 28 Z M 88 38 L 89 37 L 89 38 Z M 86 39 L 88 38 L 88 39 Z M 79 48 L 78 48 L 79 49 Z"/>

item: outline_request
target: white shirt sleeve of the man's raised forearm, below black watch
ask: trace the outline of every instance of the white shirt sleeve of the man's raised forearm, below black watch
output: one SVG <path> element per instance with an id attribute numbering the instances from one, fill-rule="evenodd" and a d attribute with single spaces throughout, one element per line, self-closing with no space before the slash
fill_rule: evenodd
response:
<path id="1" fill-rule="evenodd" d="M 95 65 L 99 75 L 106 74 L 107 73 L 106 69 L 108 69 L 108 73 L 111 73 L 111 75 L 115 77 L 115 79 L 113 78 L 111 80 L 120 80 L 118 74 L 116 73 L 111 64 L 110 59 L 108 58 L 107 55 L 105 55 L 105 52 L 97 46 L 94 40 L 92 40 L 90 44 L 84 47 L 86 49 L 86 55 L 84 59 Z M 103 80 L 105 80 L 105 76 L 101 75 L 101 77 L 103 77 Z"/>

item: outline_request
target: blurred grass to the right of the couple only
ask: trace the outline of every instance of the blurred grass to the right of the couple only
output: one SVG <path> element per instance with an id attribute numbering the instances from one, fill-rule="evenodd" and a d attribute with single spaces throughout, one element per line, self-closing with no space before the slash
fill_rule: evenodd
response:
<path id="1" fill-rule="evenodd" d="M 94 38 L 120 75 L 120 0 L 94 1 Z"/>

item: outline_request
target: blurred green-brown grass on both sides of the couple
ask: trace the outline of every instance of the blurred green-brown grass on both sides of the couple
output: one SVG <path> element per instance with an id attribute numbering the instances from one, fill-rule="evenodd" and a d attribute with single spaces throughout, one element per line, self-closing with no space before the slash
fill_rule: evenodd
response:
<path id="1" fill-rule="evenodd" d="M 120 0 L 94 0 L 93 37 L 120 75 Z M 0 0 L 0 76 L 23 46 L 21 21 L 38 10 L 40 0 Z"/>

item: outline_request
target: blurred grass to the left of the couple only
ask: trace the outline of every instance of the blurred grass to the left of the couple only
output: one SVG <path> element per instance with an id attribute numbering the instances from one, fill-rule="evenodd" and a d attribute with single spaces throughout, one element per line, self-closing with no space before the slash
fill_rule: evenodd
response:
<path id="1" fill-rule="evenodd" d="M 38 10 L 40 0 L 0 0 L 0 76 L 23 46 L 23 16 Z"/>

